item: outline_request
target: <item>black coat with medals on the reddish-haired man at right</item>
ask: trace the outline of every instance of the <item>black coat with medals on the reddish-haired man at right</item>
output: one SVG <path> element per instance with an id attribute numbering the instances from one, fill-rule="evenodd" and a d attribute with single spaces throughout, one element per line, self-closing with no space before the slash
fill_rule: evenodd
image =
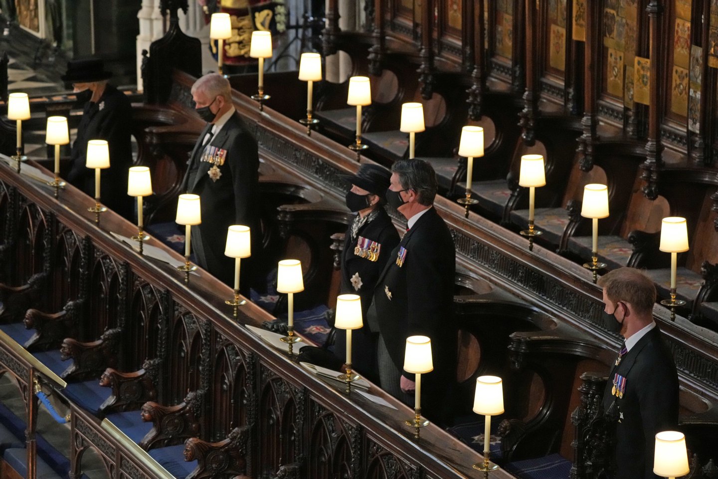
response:
<path id="1" fill-rule="evenodd" d="M 623 398 L 612 394 L 615 374 L 625 378 Z M 679 383 L 671 350 L 658 327 L 646 333 L 611 369 L 603 407 L 617 408 L 617 479 L 653 479 L 656 432 L 678 425 Z M 613 404 L 615 402 L 615 404 Z"/>

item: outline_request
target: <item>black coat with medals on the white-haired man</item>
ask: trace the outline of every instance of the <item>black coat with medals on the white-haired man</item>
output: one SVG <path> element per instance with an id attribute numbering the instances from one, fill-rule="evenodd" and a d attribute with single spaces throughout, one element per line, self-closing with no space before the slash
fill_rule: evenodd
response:
<path id="1" fill-rule="evenodd" d="M 259 223 L 258 179 L 259 157 L 257 141 L 239 117 L 234 113 L 222 129 L 202 148 L 205 134 L 212 127 L 208 124 L 197 139 L 190 154 L 187 173 L 182 180 L 181 191 L 200 195 L 202 224 L 199 225 L 202 248 L 207 259 L 199 264 L 218 279 L 232 286 L 234 284 L 234 260 L 224 255 L 227 228 L 230 225 L 246 225 L 252 231 L 252 256 L 241 263 L 241 286 L 246 292 L 250 279 L 252 261 L 261 253 L 261 231 Z M 218 164 L 221 176 L 218 180 L 208 175 L 213 163 L 202 161 L 203 152 L 210 147 L 224 150 L 223 164 Z M 190 172 L 196 175 L 190 184 Z"/>

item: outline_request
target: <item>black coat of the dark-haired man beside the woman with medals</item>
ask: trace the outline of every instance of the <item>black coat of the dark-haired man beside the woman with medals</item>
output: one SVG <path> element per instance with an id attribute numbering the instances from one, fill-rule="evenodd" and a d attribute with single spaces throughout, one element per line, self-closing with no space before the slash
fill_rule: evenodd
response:
<path id="1" fill-rule="evenodd" d="M 403 266 L 396 264 L 406 248 Z M 456 251 L 449 228 L 435 208 L 416 220 L 391 252 L 374 290 L 379 329 L 394 365 L 404 371 L 406 338 L 432 340 L 434 371 L 422 375 L 427 414 L 448 417 L 457 366 L 457 327 L 453 317 Z M 391 295 L 391 297 L 390 297 Z M 414 374 L 404 372 L 414 381 Z"/>

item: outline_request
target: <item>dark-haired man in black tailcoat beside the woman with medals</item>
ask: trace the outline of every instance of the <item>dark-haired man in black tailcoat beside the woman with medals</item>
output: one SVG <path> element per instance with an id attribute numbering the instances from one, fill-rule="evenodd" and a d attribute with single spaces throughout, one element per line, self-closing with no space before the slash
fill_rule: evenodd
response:
<path id="1" fill-rule="evenodd" d="M 381 387 L 409 400 L 414 375 L 404 368 L 406 338 L 426 335 L 432 340 L 434 371 L 422 381 L 422 410 L 437 422 L 451 417 L 452 386 L 456 377 L 457 338 L 452 302 L 456 268 L 454 241 L 433 208 L 437 179 L 432 166 L 420 159 L 395 162 L 389 205 L 408 220 L 408 231 L 389 255 L 379 276 L 374 302 L 381 340 Z"/>

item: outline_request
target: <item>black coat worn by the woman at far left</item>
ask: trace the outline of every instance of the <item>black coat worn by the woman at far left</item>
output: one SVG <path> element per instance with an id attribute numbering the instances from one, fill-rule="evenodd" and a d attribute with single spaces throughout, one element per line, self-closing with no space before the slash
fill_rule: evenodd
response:
<path id="1" fill-rule="evenodd" d="M 95 197 L 95 170 L 85 167 L 89 140 L 107 140 L 110 167 L 101 170 L 101 203 L 128 220 L 134 220 L 134 200 L 127 195 L 127 177 L 132 166 L 130 132 L 132 106 L 124 93 L 107 85 L 100 101 L 85 103 L 73 143 L 72 166 L 67 181 Z"/>

